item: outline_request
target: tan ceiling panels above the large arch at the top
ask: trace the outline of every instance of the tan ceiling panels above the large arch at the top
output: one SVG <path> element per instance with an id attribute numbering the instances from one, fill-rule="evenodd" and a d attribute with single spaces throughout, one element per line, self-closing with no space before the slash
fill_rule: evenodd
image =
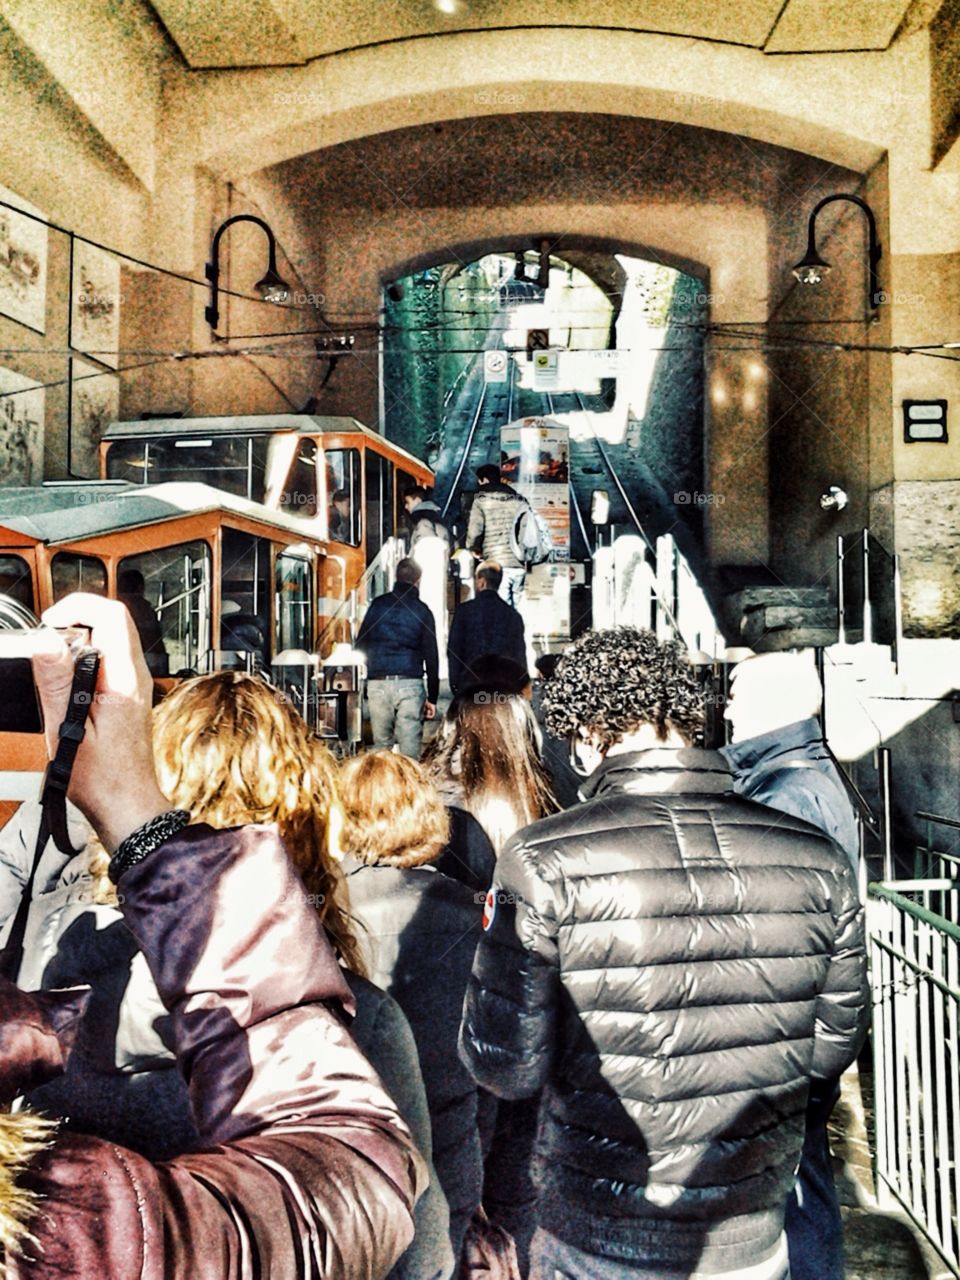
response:
<path id="1" fill-rule="evenodd" d="M 767 54 L 886 49 L 936 0 L 151 0 L 192 68 L 302 65 L 329 54 L 463 31 L 646 31 Z M 928 13 L 918 15 L 920 22 Z M 521 35 L 522 33 L 522 35 Z M 522 51 L 522 45 L 518 45 Z"/>

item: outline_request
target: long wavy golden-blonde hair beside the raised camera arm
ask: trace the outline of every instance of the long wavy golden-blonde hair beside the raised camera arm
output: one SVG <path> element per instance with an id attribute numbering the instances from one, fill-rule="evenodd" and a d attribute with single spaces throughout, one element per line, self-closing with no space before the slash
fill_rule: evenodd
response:
<path id="1" fill-rule="evenodd" d="M 287 699 L 246 672 L 187 680 L 154 712 L 160 790 L 212 827 L 275 823 L 344 964 L 365 973 L 337 861 L 337 767 Z"/>

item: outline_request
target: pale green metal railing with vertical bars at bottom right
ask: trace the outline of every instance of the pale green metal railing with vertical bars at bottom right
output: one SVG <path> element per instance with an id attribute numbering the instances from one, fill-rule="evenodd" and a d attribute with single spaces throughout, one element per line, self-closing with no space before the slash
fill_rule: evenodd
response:
<path id="1" fill-rule="evenodd" d="M 960 1276 L 957 882 L 869 886 L 876 1179 Z"/>

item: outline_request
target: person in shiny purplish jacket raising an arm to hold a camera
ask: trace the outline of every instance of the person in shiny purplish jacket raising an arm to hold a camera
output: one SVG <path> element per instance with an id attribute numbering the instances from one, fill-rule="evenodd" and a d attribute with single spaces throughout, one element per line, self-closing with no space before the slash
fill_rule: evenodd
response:
<path id="1" fill-rule="evenodd" d="M 411 1239 L 424 1166 L 346 1030 L 348 988 L 276 832 L 214 831 L 170 809 L 123 605 L 78 594 L 45 621 L 90 628 L 101 653 L 69 796 L 113 854 L 200 1144 L 152 1164 L 28 1112 L 1 1116 L 8 1275 L 383 1277 Z M 56 636 L 33 662 L 50 730 L 67 721 L 74 664 Z M 82 991 L 0 980 L 3 1098 L 63 1069 L 83 1004 Z"/>

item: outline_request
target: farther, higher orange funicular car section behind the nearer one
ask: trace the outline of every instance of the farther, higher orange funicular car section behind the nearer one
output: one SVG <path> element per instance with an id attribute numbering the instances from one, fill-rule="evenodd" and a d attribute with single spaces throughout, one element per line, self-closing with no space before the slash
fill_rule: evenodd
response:
<path id="1" fill-rule="evenodd" d="M 428 466 L 353 417 L 306 413 L 113 422 L 101 475 L 138 485 L 200 481 L 261 503 L 321 539 L 317 609 L 332 620 L 402 525 Z M 323 631 L 323 627 L 321 627 Z M 343 639 L 337 635 L 334 639 Z"/>

